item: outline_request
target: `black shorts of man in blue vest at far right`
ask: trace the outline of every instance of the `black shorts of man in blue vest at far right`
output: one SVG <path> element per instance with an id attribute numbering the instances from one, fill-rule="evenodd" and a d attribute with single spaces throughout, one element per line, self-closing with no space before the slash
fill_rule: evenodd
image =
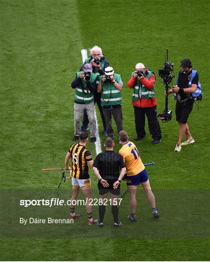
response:
<path id="1" fill-rule="evenodd" d="M 188 117 L 192 111 L 193 103 L 189 103 L 187 105 L 184 105 L 182 103 L 176 102 L 176 121 L 185 124 L 187 123 Z"/>

